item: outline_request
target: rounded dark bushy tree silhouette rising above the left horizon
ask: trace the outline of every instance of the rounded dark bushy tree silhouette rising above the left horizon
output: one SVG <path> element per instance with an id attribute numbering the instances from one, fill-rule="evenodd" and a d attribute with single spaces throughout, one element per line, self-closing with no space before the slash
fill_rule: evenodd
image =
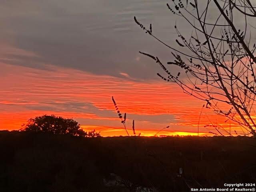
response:
<path id="1" fill-rule="evenodd" d="M 31 118 L 24 125 L 24 131 L 50 132 L 53 134 L 70 134 L 73 136 L 86 136 L 87 133 L 80 128 L 78 122 L 55 115 L 43 115 Z"/>

